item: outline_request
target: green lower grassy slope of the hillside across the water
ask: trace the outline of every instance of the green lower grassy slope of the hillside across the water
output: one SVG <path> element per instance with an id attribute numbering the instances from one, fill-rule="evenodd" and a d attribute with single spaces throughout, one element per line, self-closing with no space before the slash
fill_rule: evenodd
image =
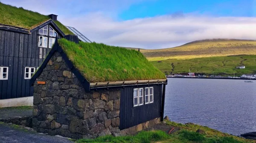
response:
<path id="1" fill-rule="evenodd" d="M 242 75 L 256 73 L 256 55 L 213 56 L 194 59 L 167 59 L 162 62 L 151 61 L 155 67 L 169 74 L 194 73 L 205 75 Z M 244 65 L 245 69 L 236 69 Z"/>

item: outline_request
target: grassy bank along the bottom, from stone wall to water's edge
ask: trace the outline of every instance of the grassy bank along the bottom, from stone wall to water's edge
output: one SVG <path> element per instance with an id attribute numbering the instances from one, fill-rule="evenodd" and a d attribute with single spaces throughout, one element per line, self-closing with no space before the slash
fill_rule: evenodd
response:
<path id="1" fill-rule="evenodd" d="M 81 139 L 76 143 L 256 143 L 199 125 L 184 125 L 166 121 L 166 126 L 179 128 L 177 132 L 166 134 L 164 131 L 143 131 L 134 136 L 113 137 L 103 136 L 96 139 Z M 196 130 L 205 133 L 200 134 Z"/>

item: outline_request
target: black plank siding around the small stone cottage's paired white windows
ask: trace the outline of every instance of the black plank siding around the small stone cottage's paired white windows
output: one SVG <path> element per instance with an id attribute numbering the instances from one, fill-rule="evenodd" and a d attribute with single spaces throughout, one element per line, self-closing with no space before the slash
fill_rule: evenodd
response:
<path id="1" fill-rule="evenodd" d="M 161 116 L 161 105 L 163 96 L 163 85 L 150 85 L 154 87 L 154 103 L 143 104 L 141 106 L 133 107 L 133 89 L 145 88 L 148 86 L 139 87 L 125 87 L 121 90 L 120 99 L 120 126 L 119 129 L 126 129 L 154 118 Z M 145 96 L 143 95 L 145 99 Z M 144 101 L 143 99 L 143 101 Z M 145 102 L 145 101 L 144 101 Z"/>

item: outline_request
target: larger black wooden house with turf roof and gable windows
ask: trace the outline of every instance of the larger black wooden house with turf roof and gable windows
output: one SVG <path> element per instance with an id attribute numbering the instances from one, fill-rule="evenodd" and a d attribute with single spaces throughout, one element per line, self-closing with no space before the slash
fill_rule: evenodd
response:
<path id="1" fill-rule="evenodd" d="M 5 23 L 5 20 L 0 21 L 0 99 L 32 96 L 33 91 L 29 86 L 29 79 L 51 50 L 55 38 L 65 36 L 62 30 L 68 34 L 71 32 L 56 21 L 57 15 L 45 16 L 3 3 L 0 3 L 0 7 L 20 11 L 20 13 L 25 11 L 27 15 L 20 15 L 20 20 L 38 22 L 29 26 L 28 29 L 21 24 L 17 24 L 18 27 Z M 29 17 L 29 14 L 34 15 L 34 19 Z M 6 18 L 12 19 L 12 14 L 9 15 L 10 17 Z M 44 21 L 35 19 L 35 15 L 45 17 Z M 15 22 L 12 20 L 12 23 Z"/>

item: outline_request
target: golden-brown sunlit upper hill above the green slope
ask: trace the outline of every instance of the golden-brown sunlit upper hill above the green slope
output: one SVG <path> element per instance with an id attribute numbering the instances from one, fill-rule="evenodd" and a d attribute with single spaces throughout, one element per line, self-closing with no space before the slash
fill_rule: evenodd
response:
<path id="1" fill-rule="evenodd" d="M 156 50 L 140 50 L 149 61 L 164 59 L 193 59 L 199 57 L 254 55 L 256 40 L 207 39 Z"/>

